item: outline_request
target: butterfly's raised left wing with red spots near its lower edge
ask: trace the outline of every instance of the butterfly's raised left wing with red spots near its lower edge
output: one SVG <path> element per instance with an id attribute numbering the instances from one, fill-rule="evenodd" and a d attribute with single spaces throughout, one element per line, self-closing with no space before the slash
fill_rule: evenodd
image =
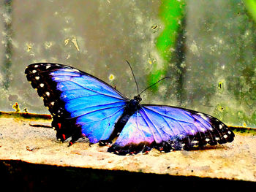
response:
<path id="1" fill-rule="evenodd" d="M 97 77 L 69 66 L 31 64 L 25 73 L 53 115 L 56 137 L 72 137 L 70 144 L 82 136 L 91 143 L 108 139 L 128 100 Z"/>

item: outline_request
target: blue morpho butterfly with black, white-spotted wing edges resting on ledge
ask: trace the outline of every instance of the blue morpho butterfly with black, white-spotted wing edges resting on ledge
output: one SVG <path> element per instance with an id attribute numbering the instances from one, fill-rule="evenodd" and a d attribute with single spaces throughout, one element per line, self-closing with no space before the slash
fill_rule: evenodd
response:
<path id="1" fill-rule="evenodd" d="M 129 63 L 128 63 L 129 64 Z M 53 116 L 57 139 L 80 137 L 110 145 L 118 155 L 192 150 L 232 142 L 235 135 L 210 115 L 167 105 L 140 104 L 97 77 L 61 64 L 31 64 L 26 77 Z M 132 72 L 133 73 L 133 72 Z"/>

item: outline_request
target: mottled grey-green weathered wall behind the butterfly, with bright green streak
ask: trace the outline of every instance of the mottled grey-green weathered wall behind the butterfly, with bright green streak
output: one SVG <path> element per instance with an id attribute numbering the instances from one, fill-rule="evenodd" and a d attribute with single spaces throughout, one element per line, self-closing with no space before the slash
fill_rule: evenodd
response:
<path id="1" fill-rule="evenodd" d="M 24 0 L 0 4 L 0 110 L 48 113 L 27 65 L 74 66 L 143 103 L 256 126 L 255 0 Z"/>

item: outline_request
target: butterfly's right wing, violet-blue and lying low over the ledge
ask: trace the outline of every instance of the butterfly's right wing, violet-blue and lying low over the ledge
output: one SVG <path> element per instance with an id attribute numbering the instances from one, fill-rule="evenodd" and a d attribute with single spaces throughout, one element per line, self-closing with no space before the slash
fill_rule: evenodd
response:
<path id="1" fill-rule="evenodd" d="M 232 142 L 233 131 L 217 118 L 178 107 L 142 105 L 127 121 L 109 152 L 125 155 L 151 148 L 190 150 Z"/>

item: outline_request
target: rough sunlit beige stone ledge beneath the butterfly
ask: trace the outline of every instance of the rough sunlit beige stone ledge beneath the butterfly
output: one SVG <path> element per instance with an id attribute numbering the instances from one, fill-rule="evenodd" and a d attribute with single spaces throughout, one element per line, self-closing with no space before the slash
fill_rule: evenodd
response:
<path id="1" fill-rule="evenodd" d="M 50 128 L 29 126 L 29 120 L 0 118 L 0 159 L 18 159 L 35 164 L 77 166 L 94 169 L 128 170 L 157 174 L 216 177 L 256 181 L 256 136 L 237 133 L 226 145 L 202 150 L 119 156 L 108 147 L 89 145 L 80 139 L 67 147 Z M 42 121 L 31 122 L 42 123 Z M 50 122 L 46 122 L 50 125 Z"/>

